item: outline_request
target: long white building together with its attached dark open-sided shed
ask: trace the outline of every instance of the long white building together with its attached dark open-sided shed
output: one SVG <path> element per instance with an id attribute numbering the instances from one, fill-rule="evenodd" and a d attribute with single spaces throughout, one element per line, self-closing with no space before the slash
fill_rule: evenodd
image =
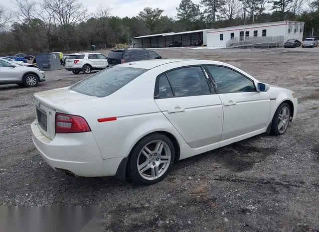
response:
<path id="1" fill-rule="evenodd" d="M 279 21 L 218 29 L 203 29 L 183 32 L 144 35 L 132 38 L 135 48 L 168 47 L 171 42 L 179 42 L 183 47 L 191 47 L 202 40 L 207 47 L 239 46 L 280 46 L 287 39 L 303 39 L 305 22 Z"/>

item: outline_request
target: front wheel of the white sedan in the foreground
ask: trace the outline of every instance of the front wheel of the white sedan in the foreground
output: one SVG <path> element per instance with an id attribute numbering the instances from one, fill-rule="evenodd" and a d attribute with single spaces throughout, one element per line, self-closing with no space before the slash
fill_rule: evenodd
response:
<path id="1" fill-rule="evenodd" d="M 272 120 L 270 133 L 272 135 L 282 135 L 286 132 L 290 121 L 290 106 L 282 103 Z"/>

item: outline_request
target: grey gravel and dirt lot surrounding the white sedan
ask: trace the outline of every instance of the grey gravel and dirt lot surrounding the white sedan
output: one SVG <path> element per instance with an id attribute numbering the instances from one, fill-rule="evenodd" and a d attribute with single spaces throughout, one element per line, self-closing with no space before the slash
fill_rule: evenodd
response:
<path id="1" fill-rule="evenodd" d="M 262 134 L 176 162 L 152 186 L 66 177 L 32 143 L 32 94 L 85 75 L 48 71 L 36 88 L 0 86 L 0 206 L 97 206 L 105 231 L 319 232 L 319 48 L 156 51 L 228 62 L 287 87 L 299 98 L 297 119 L 282 136 Z"/>

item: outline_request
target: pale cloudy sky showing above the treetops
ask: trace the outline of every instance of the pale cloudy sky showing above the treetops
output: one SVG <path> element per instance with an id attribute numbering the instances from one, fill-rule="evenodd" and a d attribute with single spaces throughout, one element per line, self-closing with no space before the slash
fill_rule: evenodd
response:
<path id="1" fill-rule="evenodd" d="M 0 4 L 8 9 L 13 9 L 14 4 L 12 0 L 0 0 Z M 178 7 L 180 0 L 78 0 L 82 2 L 88 10 L 93 13 L 100 3 L 109 5 L 112 16 L 119 17 L 133 17 L 137 16 L 140 11 L 145 7 L 152 7 L 163 9 L 163 15 L 174 17 L 176 15 L 176 7 Z M 115 3 L 116 2 L 116 3 Z M 194 3 L 198 4 L 200 0 L 193 0 Z"/>

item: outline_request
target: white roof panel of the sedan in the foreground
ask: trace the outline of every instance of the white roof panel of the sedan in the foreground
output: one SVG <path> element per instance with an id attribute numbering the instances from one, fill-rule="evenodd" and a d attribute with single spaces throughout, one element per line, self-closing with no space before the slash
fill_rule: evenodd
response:
<path id="1" fill-rule="evenodd" d="M 179 63 L 180 65 L 200 65 L 200 64 L 215 64 L 215 65 L 224 65 L 225 63 L 212 60 L 197 60 L 197 59 L 155 59 L 155 60 L 140 60 L 132 61 L 124 64 L 118 64 L 115 67 L 132 67 L 132 68 L 141 68 L 141 69 L 153 69 L 155 67 L 169 64 L 169 63 Z"/>

